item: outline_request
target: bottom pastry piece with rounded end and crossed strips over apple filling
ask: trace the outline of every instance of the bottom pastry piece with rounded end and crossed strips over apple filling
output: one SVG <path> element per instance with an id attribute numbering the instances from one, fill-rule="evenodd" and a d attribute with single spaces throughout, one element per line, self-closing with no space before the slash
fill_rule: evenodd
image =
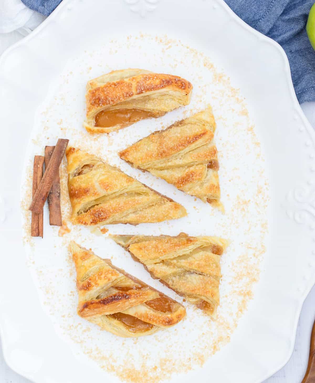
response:
<path id="1" fill-rule="evenodd" d="M 178 302 L 91 250 L 71 242 L 77 271 L 78 315 L 122 337 L 139 337 L 174 326 L 186 314 Z"/>

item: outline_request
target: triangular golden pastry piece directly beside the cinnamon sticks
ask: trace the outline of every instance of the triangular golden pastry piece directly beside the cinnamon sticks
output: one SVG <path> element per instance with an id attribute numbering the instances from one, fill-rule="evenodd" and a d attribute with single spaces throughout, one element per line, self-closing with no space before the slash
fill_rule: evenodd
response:
<path id="1" fill-rule="evenodd" d="M 95 155 L 69 147 L 68 189 L 74 224 L 155 223 L 186 216 L 185 208 Z"/>

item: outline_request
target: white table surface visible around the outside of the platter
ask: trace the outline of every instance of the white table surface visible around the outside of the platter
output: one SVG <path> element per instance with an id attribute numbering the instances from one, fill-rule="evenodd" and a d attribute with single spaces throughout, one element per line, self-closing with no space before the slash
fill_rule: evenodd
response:
<path id="1" fill-rule="evenodd" d="M 11 44 L 28 34 L 28 28 L 19 32 L 0 33 L 0 54 Z M 302 109 L 308 120 L 315 129 L 315 103 L 302 104 Z M 289 362 L 276 374 L 267 379 L 264 383 L 300 383 L 304 377 L 310 346 L 310 334 L 315 320 L 315 286 L 307 296 L 297 327 L 295 347 Z M 270 345 L 272 347 L 272 345 Z M 3 359 L 0 343 L 0 383 L 31 383 L 16 372 L 12 371 Z"/>

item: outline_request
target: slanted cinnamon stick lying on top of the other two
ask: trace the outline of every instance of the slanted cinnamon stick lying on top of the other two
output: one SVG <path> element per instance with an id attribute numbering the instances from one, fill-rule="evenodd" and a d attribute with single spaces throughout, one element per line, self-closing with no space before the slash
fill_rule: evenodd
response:
<path id="1" fill-rule="evenodd" d="M 55 175 L 59 169 L 62 157 L 65 154 L 69 140 L 59 138 L 52 152 L 51 159 L 48 163 L 47 169 L 38 185 L 38 188 L 33 196 L 29 210 L 39 214 L 47 200 L 49 191 L 51 190 L 52 183 L 54 182 Z"/>

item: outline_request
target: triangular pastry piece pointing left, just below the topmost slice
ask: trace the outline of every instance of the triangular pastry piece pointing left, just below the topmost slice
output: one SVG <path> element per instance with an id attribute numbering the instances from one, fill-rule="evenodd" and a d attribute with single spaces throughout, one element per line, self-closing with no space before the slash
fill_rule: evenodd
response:
<path id="1" fill-rule="evenodd" d="M 214 116 L 208 106 L 165 130 L 144 137 L 119 156 L 223 211 L 214 131 Z"/>

